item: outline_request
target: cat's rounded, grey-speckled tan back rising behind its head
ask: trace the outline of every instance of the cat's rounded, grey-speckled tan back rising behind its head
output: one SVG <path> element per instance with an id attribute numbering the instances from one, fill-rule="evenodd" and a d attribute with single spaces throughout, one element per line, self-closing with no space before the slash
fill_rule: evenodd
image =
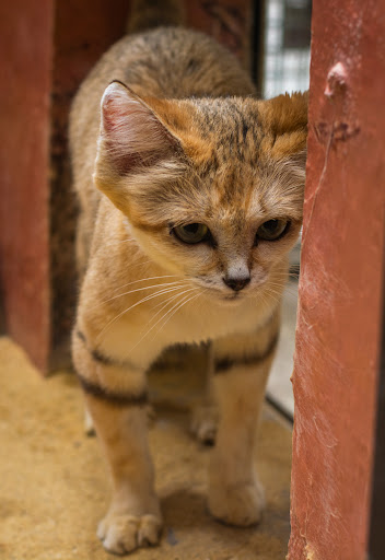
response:
<path id="1" fill-rule="evenodd" d="M 211 37 L 185 27 L 126 35 L 107 50 L 74 102 L 100 101 L 113 80 L 158 97 L 249 95 L 255 88 L 237 59 Z"/>

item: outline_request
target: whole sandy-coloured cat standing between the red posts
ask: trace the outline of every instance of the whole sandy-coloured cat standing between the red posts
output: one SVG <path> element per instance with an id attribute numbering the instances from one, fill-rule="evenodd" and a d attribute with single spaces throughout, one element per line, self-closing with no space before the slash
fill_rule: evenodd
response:
<path id="1" fill-rule="evenodd" d="M 160 538 L 145 373 L 178 342 L 211 341 L 209 510 L 240 526 L 260 518 L 255 432 L 301 228 L 307 124 L 306 95 L 258 101 L 230 52 L 168 25 L 175 1 L 133 12 L 137 33 L 92 70 L 70 124 L 73 362 L 113 478 L 97 535 L 116 553 Z M 154 21 L 164 26 L 141 31 Z"/>

